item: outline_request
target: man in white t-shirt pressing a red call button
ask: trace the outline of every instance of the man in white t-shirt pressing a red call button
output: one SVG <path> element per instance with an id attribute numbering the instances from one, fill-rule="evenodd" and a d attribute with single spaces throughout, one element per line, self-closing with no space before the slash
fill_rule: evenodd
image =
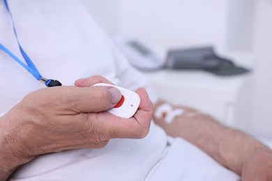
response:
<path id="1" fill-rule="evenodd" d="M 0 44 L 1 180 L 272 180 L 250 136 L 168 103 L 184 112 L 166 123 L 166 102 L 77 1 L 0 0 Z M 98 82 L 136 91 L 135 115 L 109 113 L 121 92 Z"/>

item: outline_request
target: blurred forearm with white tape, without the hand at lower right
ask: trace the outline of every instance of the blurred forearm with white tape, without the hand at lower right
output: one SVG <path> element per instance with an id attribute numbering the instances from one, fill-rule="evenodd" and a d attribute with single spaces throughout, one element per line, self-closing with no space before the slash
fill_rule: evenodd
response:
<path id="1" fill-rule="evenodd" d="M 156 104 L 155 108 L 163 102 Z M 172 123 L 154 118 L 156 123 L 163 127 L 170 136 L 180 136 L 204 150 L 223 166 L 235 171 L 239 175 L 243 164 L 255 154 L 271 151 L 251 136 L 220 125 L 213 118 L 193 109 L 184 108 L 185 113 L 176 117 Z"/>

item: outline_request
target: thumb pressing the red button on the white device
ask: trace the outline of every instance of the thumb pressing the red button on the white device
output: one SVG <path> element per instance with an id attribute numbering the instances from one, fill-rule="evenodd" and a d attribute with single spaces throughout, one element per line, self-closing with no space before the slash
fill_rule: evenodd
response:
<path id="1" fill-rule="evenodd" d="M 109 86 L 70 87 L 65 102 L 77 113 L 105 111 L 121 100 L 119 89 Z"/>

